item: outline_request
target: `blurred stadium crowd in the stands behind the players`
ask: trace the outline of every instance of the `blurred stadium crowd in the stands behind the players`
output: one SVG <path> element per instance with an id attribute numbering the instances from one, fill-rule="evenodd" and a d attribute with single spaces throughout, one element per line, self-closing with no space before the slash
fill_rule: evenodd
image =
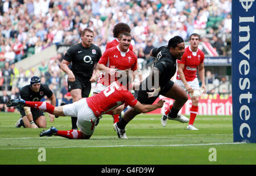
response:
<path id="1" fill-rule="evenodd" d="M 2 0 L 0 2 L 0 109 L 6 91 L 12 98 L 29 84 L 34 69 L 15 68 L 14 63 L 50 45 L 76 44 L 84 28 L 94 31 L 94 44 L 105 51 L 106 42 L 113 40 L 116 23 L 131 27 L 132 44 L 141 69 L 151 65 L 148 55 L 153 47 L 166 45 L 176 35 L 188 41 L 191 33 L 199 33 L 219 55 L 230 56 L 231 0 Z M 48 63 L 42 62 L 40 77 L 53 92 L 67 94 L 65 74 L 60 70 L 63 53 Z M 15 85 L 14 79 L 16 78 Z M 64 78 L 63 80 L 61 80 Z"/>

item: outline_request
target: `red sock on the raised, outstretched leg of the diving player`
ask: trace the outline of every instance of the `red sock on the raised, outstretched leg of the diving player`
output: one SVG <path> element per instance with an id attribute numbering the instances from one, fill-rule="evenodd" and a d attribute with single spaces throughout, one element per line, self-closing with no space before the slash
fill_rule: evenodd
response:
<path id="1" fill-rule="evenodd" d="M 52 114 L 54 111 L 54 106 L 52 104 L 49 104 L 47 102 L 29 102 L 26 101 L 24 106 L 28 106 L 31 108 L 35 108 L 37 110 L 48 112 L 49 114 Z"/>

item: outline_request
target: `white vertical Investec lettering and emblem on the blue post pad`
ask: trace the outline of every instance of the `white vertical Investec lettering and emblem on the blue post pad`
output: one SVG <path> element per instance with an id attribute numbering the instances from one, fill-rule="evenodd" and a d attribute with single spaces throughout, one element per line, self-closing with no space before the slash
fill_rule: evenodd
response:
<path id="1" fill-rule="evenodd" d="M 242 8 L 245 12 L 249 12 L 251 6 L 253 6 L 254 0 L 240 0 Z M 240 49 L 240 53 L 242 56 L 238 56 L 241 58 L 239 64 L 239 103 L 240 107 L 240 118 L 243 120 L 240 125 L 240 135 L 243 136 L 243 129 L 248 130 L 247 138 L 251 137 L 251 128 L 247 123 L 247 120 L 250 119 L 250 99 L 253 98 L 253 95 L 250 93 L 250 41 L 254 40 L 250 38 L 250 31 L 255 32 L 255 29 L 250 29 L 250 24 L 254 23 L 254 16 L 239 16 L 239 43 L 243 46 Z M 252 24 L 251 24 L 252 25 Z M 253 42 L 252 42 L 253 43 Z M 255 52 L 255 51 L 253 51 Z"/>

